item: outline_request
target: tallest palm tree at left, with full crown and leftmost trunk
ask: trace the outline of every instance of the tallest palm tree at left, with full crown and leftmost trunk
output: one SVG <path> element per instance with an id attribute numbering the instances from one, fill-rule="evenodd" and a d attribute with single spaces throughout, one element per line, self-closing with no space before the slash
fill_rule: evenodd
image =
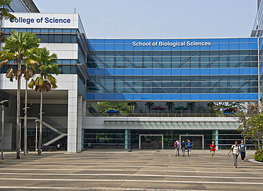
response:
<path id="1" fill-rule="evenodd" d="M 5 40 L 3 51 L 0 53 L 1 60 L 0 67 L 9 65 L 10 60 L 14 60 L 12 65 L 17 65 L 17 70 L 11 66 L 6 72 L 6 77 L 13 82 L 14 77 L 17 80 L 16 92 L 16 158 L 20 158 L 19 137 L 20 137 L 20 90 L 21 90 L 21 64 L 29 62 L 33 55 L 33 51 L 38 48 L 40 40 L 36 38 L 35 34 L 19 31 L 12 31 L 9 38 Z M 31 67 L 32 68 L 32 67 Z M 32 69 L 31 69 L 32 70 Z"/>

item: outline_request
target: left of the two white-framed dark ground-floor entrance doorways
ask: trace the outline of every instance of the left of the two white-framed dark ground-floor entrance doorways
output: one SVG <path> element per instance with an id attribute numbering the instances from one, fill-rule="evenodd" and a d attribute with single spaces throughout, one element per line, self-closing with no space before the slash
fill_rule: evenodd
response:
<path id="1" fill-rule="evenodd" d="M 139 149 L 163 149 L 163 135 L 139 135 Z"/>

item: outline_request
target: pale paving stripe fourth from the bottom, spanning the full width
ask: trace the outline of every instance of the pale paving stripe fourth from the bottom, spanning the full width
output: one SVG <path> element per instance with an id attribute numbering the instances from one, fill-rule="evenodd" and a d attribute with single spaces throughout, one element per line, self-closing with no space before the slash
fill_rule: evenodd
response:
<path id="1" fill-rule="evenodd" d="M 237 168 L 238 170 L 240 168 Z M 263 173 L 255 173 L 255 172 L 242 172 L 242 171 L 195 171 L 195 170 L 144 170 L 144 169 L 60 169 L 60 168 L 52 168 L 52 169 L 34 169 L 34 168 L 0 168 L 0 170 L 41 170 L 41 171 L 144 171 L 144 172 L 166 172 L 166 173 L 237 173 L 237 174 L 263 174 Z M 244 170 L 244 169 L 243 169 Z M 247 169 L 245 169 L 247 170 Z M 254 170 L 254 169 L 250 169 Z"/>

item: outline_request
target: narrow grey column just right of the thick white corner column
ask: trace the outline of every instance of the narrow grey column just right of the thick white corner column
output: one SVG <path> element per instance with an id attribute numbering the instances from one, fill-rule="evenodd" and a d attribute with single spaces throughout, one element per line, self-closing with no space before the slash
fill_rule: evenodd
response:
<path id="1" fill-rule="evenodd" d="M 82 150 L 82 96 L 77 96 L 77 151 Z"/>

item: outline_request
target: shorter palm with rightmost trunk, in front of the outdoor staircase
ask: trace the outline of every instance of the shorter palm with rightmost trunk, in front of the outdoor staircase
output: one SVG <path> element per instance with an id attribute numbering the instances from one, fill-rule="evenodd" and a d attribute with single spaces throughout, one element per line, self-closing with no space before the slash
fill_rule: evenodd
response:
<path id="1" fill-rule="evenodd" d="M 43 114 L 43 92 L 49 92 L 51 89 L 57 88 L 57 80 L 51 74 L 58 75 L 60 72 L 58 70 L 57 55 L 55 53 L 50 55 L 50 51 L 46 48 L 41 48 L 36 52 L 36 58 L 34 59 L 38 62 L 37 70 L 39 72 L 36 80 L 31 80 L 28 87 L 33 89 L 35 87 L 36 92 L 41 92 L 41 109 L 40 109 L 40 132 L 39 132 L 39 145 L 38 145 L 38 155 L 41 155 L 42 146 L 42 114 Z"/>

